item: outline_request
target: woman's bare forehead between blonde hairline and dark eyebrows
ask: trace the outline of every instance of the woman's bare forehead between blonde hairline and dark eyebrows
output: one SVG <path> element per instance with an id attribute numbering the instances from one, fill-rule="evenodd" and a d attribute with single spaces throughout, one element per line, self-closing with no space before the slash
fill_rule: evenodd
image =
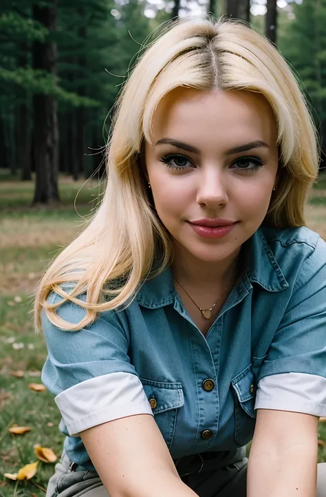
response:
<path id="1" fill-rule="evenodd" d="M 151 139 L 155 142 L 163 137 L 191 140 L 199 148 L 210 142 L 228 148 L 239 140 L 257 139 L 273 145 L 276 120 L 272 107 L 260 94 L 180 87 L 162 98 L 153 114 Z"/>

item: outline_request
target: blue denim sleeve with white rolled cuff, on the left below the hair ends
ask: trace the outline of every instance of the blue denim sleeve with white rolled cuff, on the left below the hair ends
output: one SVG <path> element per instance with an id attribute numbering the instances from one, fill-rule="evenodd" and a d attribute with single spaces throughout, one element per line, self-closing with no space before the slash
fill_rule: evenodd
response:
<path id="1" fill-rule="evenodd" d="M 51 294 L 52 302 L 60 300 Z M 59 317 L 78 323 L 85 310 L 66 302 Z M 55 395 L 70 436 L 90 427 L 135 414 L 153 414 L 128 356 L 128 339 L 116 313 L 105 313 L 78 331 L 54 326 L 42 315 L 47 359 L 42 381 Z"/>

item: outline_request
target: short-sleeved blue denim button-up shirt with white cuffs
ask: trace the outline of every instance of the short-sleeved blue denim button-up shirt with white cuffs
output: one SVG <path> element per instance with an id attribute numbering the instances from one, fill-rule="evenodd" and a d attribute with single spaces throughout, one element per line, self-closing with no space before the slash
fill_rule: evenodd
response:
<path id="1" fill-rule="evenodd" d="M 52 293 L 49 302 L 61 299 Z M 77 323 L 67 302 L 58 315 Z M 263 227 L 243 246 L 243 273 L 206 337 L 171 269 L 124 310 L 77 332 L 43 313 L 42 381 L 56 396 L 71 461 L 93 469 L 78 434 L 151 414 L 173 458 L 246 445 L 256 410 L 326 416 L 326 244 L 305 227 Z"/>

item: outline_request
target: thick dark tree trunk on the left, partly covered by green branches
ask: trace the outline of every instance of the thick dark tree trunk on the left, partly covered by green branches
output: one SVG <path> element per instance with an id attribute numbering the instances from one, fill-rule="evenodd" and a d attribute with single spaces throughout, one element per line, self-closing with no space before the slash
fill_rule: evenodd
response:
<path id="1" fill-rule="evenodd" d="M 50 6 L 33 6 L 33 17 L 50 32 L 56 29 L 58 0 Z M 51 39 L 45 43 L 34 41 L 33 68 L 56 75 L 56 44 Z M 58 202 L 58 110 L 56 99 L 45 94 L 35 94 L 34 107 L 34 162 L 36 184 L 33 204 Z"/>

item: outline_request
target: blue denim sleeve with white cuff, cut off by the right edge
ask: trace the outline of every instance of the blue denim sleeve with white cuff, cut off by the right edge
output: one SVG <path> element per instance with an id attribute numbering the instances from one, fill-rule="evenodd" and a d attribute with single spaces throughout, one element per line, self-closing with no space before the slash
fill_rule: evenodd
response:
<path id="1" fill-rule="evenodd" d="M 303 262 L 257 376 L 255 409 L 326 416 L 326 244 Z"/>

